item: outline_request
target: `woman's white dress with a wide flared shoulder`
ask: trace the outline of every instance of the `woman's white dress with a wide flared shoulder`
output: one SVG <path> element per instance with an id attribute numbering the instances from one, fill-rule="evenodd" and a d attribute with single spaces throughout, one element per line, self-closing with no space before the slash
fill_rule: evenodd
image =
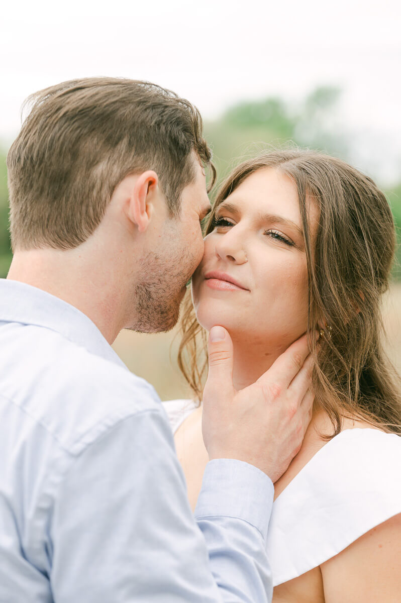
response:
<path id="1" fill-rule="evenodd" d="M 163 402 L 172 431 L 195 409 Z M 277 496 L 267 549 L 273 586 L 320 566 L 353 541 L 401 513 L 401 437 L 345 429 Z"/>

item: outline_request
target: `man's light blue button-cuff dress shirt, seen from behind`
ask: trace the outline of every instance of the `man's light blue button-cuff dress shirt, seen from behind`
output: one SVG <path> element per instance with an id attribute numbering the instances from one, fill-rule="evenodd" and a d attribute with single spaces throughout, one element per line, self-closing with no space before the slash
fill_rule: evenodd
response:
<path id="1" fill-rule="evenodd" d="M 0 280 L 0 602 L 264 603 L 273 484 L 211 461 L 195 519 L 165 411 L 95 324 Z"/>

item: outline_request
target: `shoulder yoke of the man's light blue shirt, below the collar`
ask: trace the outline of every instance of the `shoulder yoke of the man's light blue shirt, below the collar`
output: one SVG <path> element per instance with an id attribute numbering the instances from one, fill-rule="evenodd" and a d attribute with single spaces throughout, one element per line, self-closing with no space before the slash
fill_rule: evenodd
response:
<path id="1" fill-rule="evenodd" d="M 163 412 L 154 388 L 124 365 L 43 329 L 9 347 L 0 393 L 73 454 L 125 418 Z"/>

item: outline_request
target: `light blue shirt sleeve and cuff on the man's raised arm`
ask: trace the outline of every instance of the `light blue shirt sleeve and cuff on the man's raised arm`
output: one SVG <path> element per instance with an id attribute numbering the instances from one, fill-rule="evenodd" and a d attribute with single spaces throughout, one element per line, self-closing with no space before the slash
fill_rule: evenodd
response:
<path id="1" fill-rule="evenodd" d="M 212 461 L 197 526 L 162 412 L 124 418 L 58 485 L 49 526 L 55 603 L 271 601 L 272 491 L 255 467 Z"/>

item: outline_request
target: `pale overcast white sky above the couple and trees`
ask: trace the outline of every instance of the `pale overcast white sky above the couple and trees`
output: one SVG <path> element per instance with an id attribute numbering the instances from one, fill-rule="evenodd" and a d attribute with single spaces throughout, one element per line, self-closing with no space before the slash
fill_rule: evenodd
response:
<path id="1" fill-rule="evenodd" d="M 17 133 L 28 94 L 76 77 L 155 81 L 209 119 L 332 84 L 362 163 L 401 180 L 400 16 L 399 0 L 20 2 L 1 15 L 0 140 Z"/>

